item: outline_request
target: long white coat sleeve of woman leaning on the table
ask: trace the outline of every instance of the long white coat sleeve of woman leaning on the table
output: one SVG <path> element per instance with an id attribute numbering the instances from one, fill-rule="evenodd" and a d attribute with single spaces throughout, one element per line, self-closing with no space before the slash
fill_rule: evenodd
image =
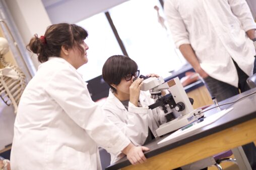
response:
<path id="1" fill-rule="evenodd" d="M 67 114 L 98 145 L 107 151 L 119 154 L 130 140 L 110 122 L 100 106 L 88 95 L 86 85 L 81 82 L 74 71 L 62 69 L 53 74 L 46 93 L 52 97 Z"/>

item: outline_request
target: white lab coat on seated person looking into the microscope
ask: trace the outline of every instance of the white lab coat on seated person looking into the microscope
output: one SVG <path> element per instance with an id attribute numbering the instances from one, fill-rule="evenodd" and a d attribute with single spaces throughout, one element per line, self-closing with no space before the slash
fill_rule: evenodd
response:
<path id="1" fill-rule="evenodd" d="M 112 121 L 121 131 L 135 144 L 143 145 L 148 136 L 148 128 L 157 137 L 156 129 L 160 124 L 166 122 L 164 112 L 159 108 L 153 110 L 148 106 L 154 104 L 154 100 L 150 98 L 149 92 L 140 92 L 140 103 L 142 107 L 136 107 L 129 102 L 128 111 L 118 98 L 115 97 L 112 90 L 102 106 L 107 118 Z M 120 159 L 115 154 L 110 153 L 111 163 Z"/>

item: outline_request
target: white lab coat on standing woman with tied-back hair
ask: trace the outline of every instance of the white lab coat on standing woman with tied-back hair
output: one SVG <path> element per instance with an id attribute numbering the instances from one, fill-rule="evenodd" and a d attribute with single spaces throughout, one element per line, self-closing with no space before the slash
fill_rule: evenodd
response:
<path id="1" fill-rule="evenodd" d="M 21 97 L 11 168 L 101 169 L 98 145 L 119 154 L 129 143 L 91 100 L 77 70 L 52 57 L 39 66 Z"/>

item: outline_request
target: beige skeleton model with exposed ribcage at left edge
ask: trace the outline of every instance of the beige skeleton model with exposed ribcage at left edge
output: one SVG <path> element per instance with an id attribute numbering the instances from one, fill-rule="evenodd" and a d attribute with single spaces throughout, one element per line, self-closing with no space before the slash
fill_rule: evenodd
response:
<path id="1" fill-rule="evenodd" d="M 8 106 L 13 104 L 16 114 L 26 80 L 24 73 L 17 66 L 5 61 L 4 55 L 8 51 L 7 40 L 0 37 L 0 97 Z"/>

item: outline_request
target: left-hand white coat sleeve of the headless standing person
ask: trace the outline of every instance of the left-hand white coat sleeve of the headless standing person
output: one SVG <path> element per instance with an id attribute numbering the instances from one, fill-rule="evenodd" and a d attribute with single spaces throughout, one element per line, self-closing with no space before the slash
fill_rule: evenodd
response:
<path id="1" fill-rule="evenodd" d="M 182 44 L 190 44 L 185 24 L 173 1 L 166 0 L 164 2 L 164 13 L 176 47 L 179 48 Z"/>

